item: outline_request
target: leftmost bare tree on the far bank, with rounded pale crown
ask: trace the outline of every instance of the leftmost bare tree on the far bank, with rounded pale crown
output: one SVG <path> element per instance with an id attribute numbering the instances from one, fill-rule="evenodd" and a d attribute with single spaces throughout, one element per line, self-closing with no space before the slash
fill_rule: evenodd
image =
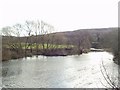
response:
<path id="1" fill-rule="evenodd" d="M 17 50 L 17 52 L 19 51 L 18 49 L 22 49 L 22 44 L 21 44 L 21 25 L 20 24 L 16 24 L 13 27 L 5 27 L 2 29 L 2 35 L 3 36 L 7 36 L 9 38 L 6 38 L 5 42 L 7 44 L 6 47 L 10 48 L 10 49 L 14 49 Z"/>

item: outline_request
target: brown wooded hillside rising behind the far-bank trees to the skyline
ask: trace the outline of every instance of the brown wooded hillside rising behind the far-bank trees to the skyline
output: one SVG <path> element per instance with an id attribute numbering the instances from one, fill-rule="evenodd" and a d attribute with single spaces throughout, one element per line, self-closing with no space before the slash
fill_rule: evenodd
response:
<path id="1" fill-rule="evenodd" d="M 82 38 L 83 36 L 88 37 L 91 40 L 91 42 L 96 42 L 98 38 L 105 39 L 107 34 L 113 33 L 117 30 L 118 28 L 96 28 L 96 29 L 78 29 L 74 31 L 56 32 L 56 33 L 47 34 L 45 38 L 45 42 L 47 41 L 47 38 L 52 37 L 54 38 L 53 43 L 64 44 L 67 42 L 67 43 L 75 44 L 77 42 L 77 40 L 75 39 L 78 37 Z M 38 35 L 37 37 L 38 37 L 37 42 L 42 43 L 43 35 Z M 20 37 L 20 38 L 21 38 L 21 42 L 25 43 L 26 39 L 29 37 Z M 19 40 L 18 37 L 2 36 L 3 43 L 5 43 L 6 41 L 10 41 L 11 39 L 16 41 Z M 36 36 L 32 36 L 31 41 L 32 43 L 35 43 Z M 30 40 L 28 40 L 28 42 L 30 42 Z"/>

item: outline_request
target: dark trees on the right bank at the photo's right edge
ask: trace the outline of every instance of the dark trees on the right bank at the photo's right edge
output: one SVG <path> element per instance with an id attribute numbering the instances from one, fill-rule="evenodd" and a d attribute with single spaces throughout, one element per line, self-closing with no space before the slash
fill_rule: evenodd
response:
<path id="1" fill-rule="evenodd" d="M 104 48 L 108 48 L 114 55 L 114 62 L 120 65 L 119 56 L 120 56 L 120 49 L 119 49 L 119 39 L 118 39 L 118 28 L 114 31 L 111 31 L 105 34 L 104 39 L 102 40 L 102 46 Z"/>

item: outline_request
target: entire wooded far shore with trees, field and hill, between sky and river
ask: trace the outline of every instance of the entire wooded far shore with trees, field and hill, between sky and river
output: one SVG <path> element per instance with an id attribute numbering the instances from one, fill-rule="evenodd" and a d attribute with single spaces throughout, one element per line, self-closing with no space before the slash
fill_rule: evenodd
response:
<path id="1" fill-rule="evenodd" d="M 118 29 L 80 29 L 57 32 L 43 21 L 26 21 L 24 24 L 2 29 L 3 60 L 32 55 L 65 56 L 102 48 L 118 58 Z"/>

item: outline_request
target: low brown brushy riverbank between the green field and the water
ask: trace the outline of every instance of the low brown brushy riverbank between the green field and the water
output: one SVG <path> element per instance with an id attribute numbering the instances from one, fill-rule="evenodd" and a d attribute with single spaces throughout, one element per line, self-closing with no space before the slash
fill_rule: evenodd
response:
<path id="1" fill-rule="evenodd" d="M 86 50 L 78 50 L 77 48 L 59 48 L 59 49 L 30 49 L 25 50 L 13 50 L 4 48 L 2 50 L 2 61 L 18 59 L 23 57 L 32 57 L 33 55 L 44 55 L 44 56 L 67 56 L 67 55 L 77 55 L 89 52 Z"/>

